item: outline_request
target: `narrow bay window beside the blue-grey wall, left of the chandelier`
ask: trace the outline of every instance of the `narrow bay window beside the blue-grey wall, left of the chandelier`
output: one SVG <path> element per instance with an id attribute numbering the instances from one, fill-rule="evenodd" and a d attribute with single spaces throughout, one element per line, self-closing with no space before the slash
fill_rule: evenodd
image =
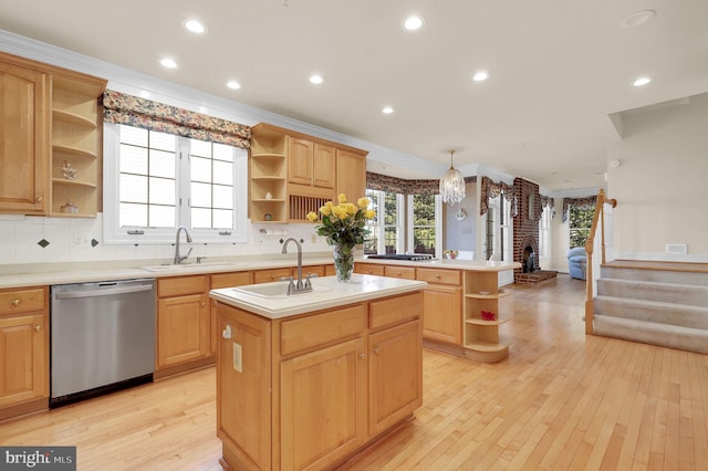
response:
<path id="1" fill-rule="evenodd" d="M 439 195 L 408 195 L 408 250 L 440 257 L 442 252 Z"/>

